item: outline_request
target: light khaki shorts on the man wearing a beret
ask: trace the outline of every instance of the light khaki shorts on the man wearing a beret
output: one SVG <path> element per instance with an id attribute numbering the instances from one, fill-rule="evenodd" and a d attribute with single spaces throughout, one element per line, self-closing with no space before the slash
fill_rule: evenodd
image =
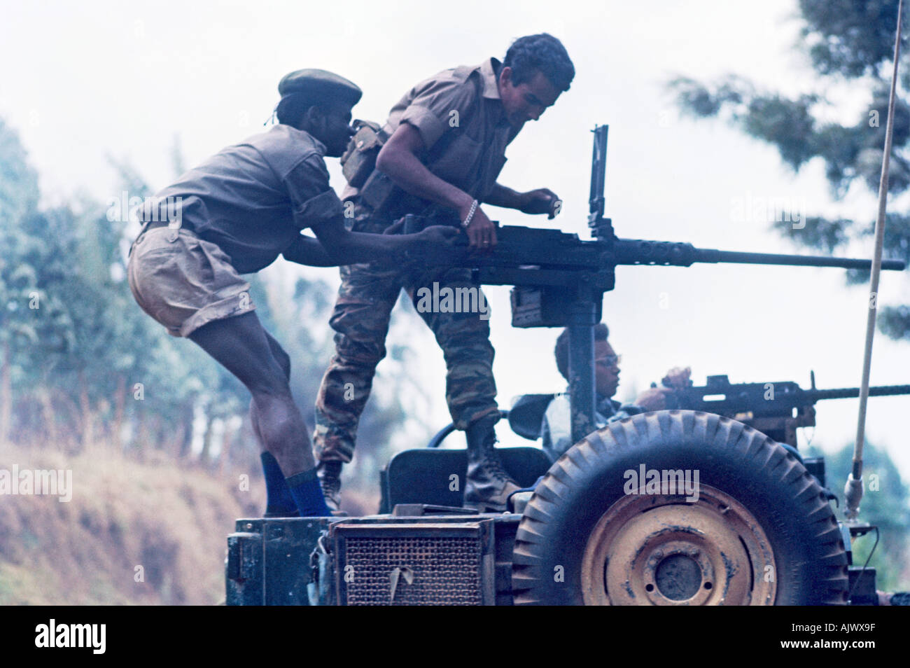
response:
<path id="1" fill-rule="evenodd" d="M 152 228 L 129 251 L 127 278 L 139 306 L 186 337 L 212 322 L 256 309 L 249 283 L 215 244 L 180 229 L 174 241 L 167 227 Z"/>

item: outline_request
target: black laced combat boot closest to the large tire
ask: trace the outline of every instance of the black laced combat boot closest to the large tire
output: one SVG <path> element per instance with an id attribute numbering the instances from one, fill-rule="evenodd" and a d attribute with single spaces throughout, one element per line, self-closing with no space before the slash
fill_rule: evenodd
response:
<path id="1" fill-rule="evenodd" d="M 493 425 L 499 416 L 483 418 L 472 424 L 465 434 L 468 440 L 468 476 L 464 485 L 464 505 L 480 512 L 507 510 L 509 495 L 521 489 L 502 468 L 497 453 Z"/>

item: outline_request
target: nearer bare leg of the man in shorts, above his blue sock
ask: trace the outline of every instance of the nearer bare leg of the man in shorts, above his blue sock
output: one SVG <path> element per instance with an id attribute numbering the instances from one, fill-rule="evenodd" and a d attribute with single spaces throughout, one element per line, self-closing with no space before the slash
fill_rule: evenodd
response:
<path id="1" fill-rule="evenodd" d="M 307 425 L 256 313 L 210 322 L 189 339 L 237 376 L 253 395 L 253 429 L 285 476 L 313 469 L 316 463 Z"/>

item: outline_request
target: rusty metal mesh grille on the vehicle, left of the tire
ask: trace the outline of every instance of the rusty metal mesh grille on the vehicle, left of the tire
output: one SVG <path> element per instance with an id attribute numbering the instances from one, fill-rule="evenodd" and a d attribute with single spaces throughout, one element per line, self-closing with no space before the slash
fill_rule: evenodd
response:
<path id="1" fill-rule="evenodd" d="M 348 605 L 480 605 L 476 537 L 353 537 L 345 541 Z M 399 569 L 392 598 L 392 572 Z M 406 569 L 410 569 L 406 571 Z M 409 583 L 406 574 L 412 574 Z"/>

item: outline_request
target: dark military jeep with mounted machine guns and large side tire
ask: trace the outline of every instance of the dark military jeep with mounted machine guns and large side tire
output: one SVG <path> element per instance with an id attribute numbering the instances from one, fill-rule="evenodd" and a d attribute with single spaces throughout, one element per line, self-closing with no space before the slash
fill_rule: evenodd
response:
<path id="1" fill-rule="evenodd" d="M 870 262 L 616 238 L 603 218 L 606 143 L 607 128 L 595 128 L 593 239 L 501 227 L 495 250 L 463 248 L 454 260 L 478 283 L 514 286 L 514 326 L 569 328 L 575 445 L 555 462 L 539 448 L 500 450 L 506 471 L 532 488 L 513 497 L 511 512 L 462 507 L 466 451 L 437 447 L 450 426 L 430 447 L 389 461 L 377 515 L 238 520 L 227 538 L 228 605 L 877 602 L 875 571 L 854 565 L 851 549 L 875 527 L 837 521 L 824 461 L 804 458 L 795 438 L 814 424 L 817 400 L 858 390 L 710 377 L 678 393 L 673 410 L 596 429 L 592 331 L 619 264 Z M 536 439 L 548 397 L 526 397 L 502 414 Z"/>

